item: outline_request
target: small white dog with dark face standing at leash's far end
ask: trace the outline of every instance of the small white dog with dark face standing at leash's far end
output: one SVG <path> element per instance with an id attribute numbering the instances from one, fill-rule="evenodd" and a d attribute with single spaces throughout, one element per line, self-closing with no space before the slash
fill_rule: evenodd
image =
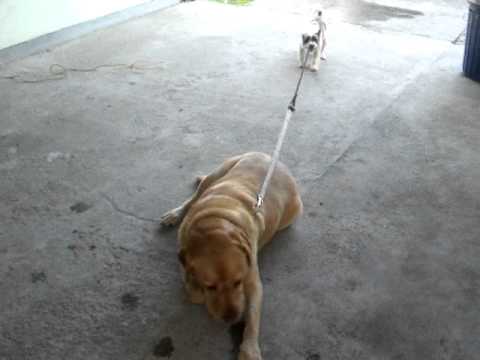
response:
<path id="1" fill-rule="evenodd" d="M 299 50 L 300 67 L 305 67 L 312 71 L 318 71 L 320 68 L 320 60 L 326 60 L 325 47 L 327 45 L 327 39 L 325 32 L 327 31 L 327 25 L 323 21 L 322 12 L 317 11 L 315 17 L 312 20 L 316 24 L 315 33 L 313 35 L 303 34 L 302 43 Z M 308 60 L 305 63 L 305 57 L 308 56 Z"/>

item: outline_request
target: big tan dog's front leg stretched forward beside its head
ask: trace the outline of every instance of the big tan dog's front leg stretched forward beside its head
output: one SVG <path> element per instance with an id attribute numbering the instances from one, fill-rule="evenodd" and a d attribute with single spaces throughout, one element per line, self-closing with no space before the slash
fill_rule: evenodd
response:
<path id="1" fill-rule="evenodd" d="M 258 264 L 254 260 L 249 279 L 245 283 L 247 295 L 247 309 L 245 312 L 245 330 L 240 345 L 238 360 L 262 360 L 258 336 L 260 331 L 260 314 L 262 307 L 263 287 L 260 279 Z"/>

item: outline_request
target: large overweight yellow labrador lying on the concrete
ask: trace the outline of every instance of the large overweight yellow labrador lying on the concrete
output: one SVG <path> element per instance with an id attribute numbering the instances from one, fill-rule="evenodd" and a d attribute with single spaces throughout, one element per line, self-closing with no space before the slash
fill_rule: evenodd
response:
<path id="1" fill-rule="evenodd" d="M 298 187 L 281 163 L 261 211 L 255 211 L 257 191 L 270 161 L 269 155 L 254 152 L 226 160 L 211 174 L 199 177 L 193 196 L 161 219 L 166 226 L 182 222 L 179 259 L 191 301 L 205 304 L 214 318 L 227 323 L 244 318 L 239 360 L 262 358 L 257 253 L 302 212 Z"/>

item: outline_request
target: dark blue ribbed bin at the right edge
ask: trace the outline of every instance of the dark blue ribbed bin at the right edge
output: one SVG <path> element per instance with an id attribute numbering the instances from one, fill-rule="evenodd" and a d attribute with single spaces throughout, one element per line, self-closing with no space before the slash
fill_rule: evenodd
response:
<path id="1" fill-rule="evenodd" d="M 463 72 L 470 79 L 480 81 L 480 0 L 468 0 L 467 36 Z"/>

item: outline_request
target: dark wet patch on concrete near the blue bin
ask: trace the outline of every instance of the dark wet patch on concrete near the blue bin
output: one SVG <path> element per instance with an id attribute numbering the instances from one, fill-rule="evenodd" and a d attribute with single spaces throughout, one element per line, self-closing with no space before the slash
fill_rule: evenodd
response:
<path id="1" fill-rule="evenodd" d="M 421 11 L 381 5 L 364 0 L 358 0 L 354 7 L 349 7 L 346 10 L 347 21 L 360 24 L 369 21 L 388 21 L 394 18 L 413 19 L 423 15 L 424 13 Z"/>

